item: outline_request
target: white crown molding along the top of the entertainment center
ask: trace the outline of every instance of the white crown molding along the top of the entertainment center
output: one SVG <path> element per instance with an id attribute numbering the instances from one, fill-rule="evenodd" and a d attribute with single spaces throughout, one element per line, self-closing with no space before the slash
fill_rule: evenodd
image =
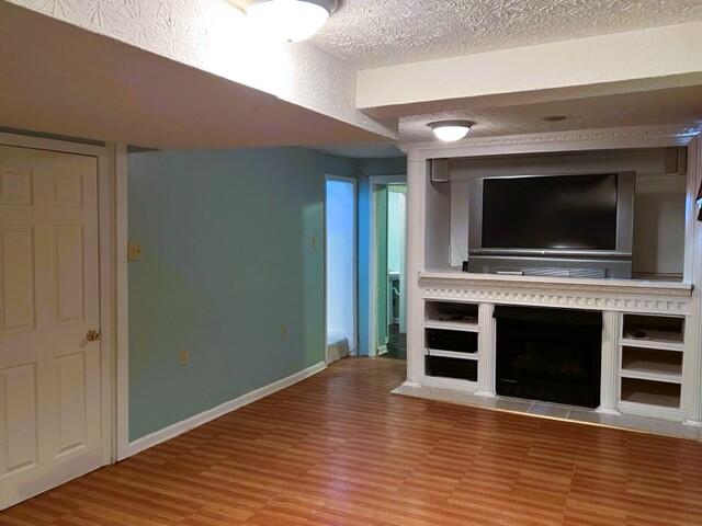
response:
<path id="1" fill-rule="evenodd" d="M 548 151 L 687 146 L 702 133 L 701 126 L 666 125 L 596 128 L 539 134 L 472 137 L 452 144 L 401 144 L 418 160 Z"/>

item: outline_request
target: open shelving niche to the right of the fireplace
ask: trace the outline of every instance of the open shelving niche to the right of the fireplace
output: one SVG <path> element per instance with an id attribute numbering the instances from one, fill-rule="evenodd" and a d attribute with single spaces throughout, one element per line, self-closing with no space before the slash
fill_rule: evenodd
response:
<path id="1" fill-rule="evenodd" d="M 681 410 L 684 318 L 624 313 L 620 339 L 623 413 L 675 416 Z"/>

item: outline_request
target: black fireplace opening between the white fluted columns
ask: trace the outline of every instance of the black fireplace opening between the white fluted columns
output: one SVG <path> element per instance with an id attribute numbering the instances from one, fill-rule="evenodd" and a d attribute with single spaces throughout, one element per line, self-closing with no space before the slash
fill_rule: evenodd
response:
<path id="1" fill-rule="evenodd" d="M 497 393 L 600 404 L 602 313 L 497 306 Z"/>

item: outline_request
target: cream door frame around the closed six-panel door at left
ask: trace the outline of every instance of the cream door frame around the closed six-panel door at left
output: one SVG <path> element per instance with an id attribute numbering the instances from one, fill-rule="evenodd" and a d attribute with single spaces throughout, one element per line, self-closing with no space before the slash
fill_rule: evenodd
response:
<path id="1" fill-rule="evenodd" d="M 100 380 L 102 465 L 120 458 L 128 423 L 126 146 L 0 133 L 0 145 L 94 157 L 98 160 Z"/>

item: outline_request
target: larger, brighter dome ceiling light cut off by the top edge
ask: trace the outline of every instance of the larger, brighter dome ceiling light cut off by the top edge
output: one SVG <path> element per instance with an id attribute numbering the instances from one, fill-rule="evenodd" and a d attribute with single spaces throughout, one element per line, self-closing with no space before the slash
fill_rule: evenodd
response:
<path id="1" fill-rule="evenodd" d="M 337 0 L 256 0 L 246 12 L 273 38 L 301 42 L 325 25 L 337 9 Z"/>

